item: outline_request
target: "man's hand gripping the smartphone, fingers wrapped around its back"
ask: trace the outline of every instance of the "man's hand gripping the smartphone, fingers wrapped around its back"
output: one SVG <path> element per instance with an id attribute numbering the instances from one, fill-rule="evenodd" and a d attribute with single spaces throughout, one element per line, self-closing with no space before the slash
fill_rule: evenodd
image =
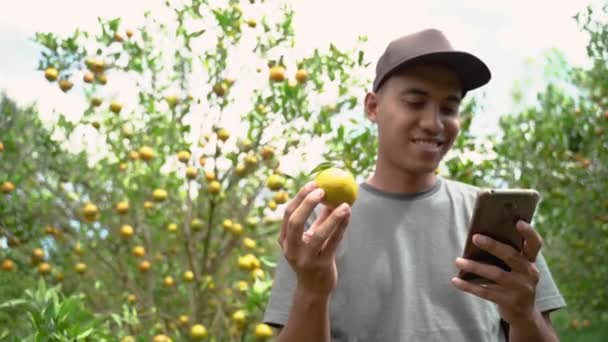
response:
<path id="1" fill-rule="evenodd" d="M 452 279 L 454 286 L 460 290 L 496 303 L 502 319 L 511 325 L 526 324 L 538 315 L 535 297 L 540 273 L 534 262 L 542 246 L 540 235 L 530 224 L 518 221 L 516 226 L 524 240 L 521 251 L 481 234 L 473 236 L 475 245 L 503 260 L 511 271 L 457 258 L 456 267 L 494 283 L 480 285 L 460 278 Z"/>

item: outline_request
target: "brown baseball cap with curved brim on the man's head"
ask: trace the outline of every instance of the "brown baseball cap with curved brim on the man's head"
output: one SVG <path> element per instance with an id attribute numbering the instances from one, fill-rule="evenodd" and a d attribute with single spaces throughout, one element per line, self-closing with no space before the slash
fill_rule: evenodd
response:
<path id="1" fill-rule="evenodd" d="M 441 31 L 427 29 L 397 38 L 386 47 L 376 65 L 374 91 L 400 67 L 420 62 L 453 69 L 460 77 L 464 93 L 483 86 L 492 77 L 490 69 L 479 58 L 454 50 Z"/>

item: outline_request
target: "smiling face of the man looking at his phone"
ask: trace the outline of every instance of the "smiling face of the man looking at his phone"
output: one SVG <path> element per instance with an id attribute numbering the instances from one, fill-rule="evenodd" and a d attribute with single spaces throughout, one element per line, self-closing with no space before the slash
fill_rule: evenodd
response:
<path id="1" fill-rule="evenodd" d="M 378 125 L 378 158 L 398 173 L 434 172 L 460 130 L 462 89 L 448 68 L 412 65 L 366 98 Z"/>

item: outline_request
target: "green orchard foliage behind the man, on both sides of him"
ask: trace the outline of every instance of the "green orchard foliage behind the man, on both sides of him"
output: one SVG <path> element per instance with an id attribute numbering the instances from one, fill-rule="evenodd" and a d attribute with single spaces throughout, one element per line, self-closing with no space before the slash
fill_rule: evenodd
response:
<path id="1" fill-rule="evenodd" d="M 503 115 L 498 136 L 471 133 L 484 108 L 469 99 L 461 136 L 440 168 L 445 177 L 476 185 L 534 187 L 543 194 L 535 226 L 568 302 L 555 319 L 564 340 L 607 335 L 606 6 L 587 7 L 575 18 L 589 37 L 590 69 L 568 65 L 558 51 L 548 55 L 546 88 L 533 105 Z M 279 191 L 266 187 L 268 178 L 280 174 L 293 195 L 307 180 L 307 170 L 293 163 L 316 140 L 325 143 L 324 159 L 340 161 L 358 179 L 372 171 L 374 127 L 356 112 L 366 84 L 352 76 L 370 67 L 361 46 L 284 54 L 296 39 L 287 7 L 275 7 L 280 15 L 255 25 L 236 1 L 168 3 L 167 9 L 175 13 L 169 23 L 146 14 L 139 28 L 100 19 L 94 33 L 37 34 L 45 48 L 41 74 L 57 68 L 59 80 L 74 84 L 69 91 L 99 98 L 101 106 L 54 113 L 49 124 L 35 106 L 18 108 L 2 98 L 0 183 L 16 189 L 0 197 L 0 259 L 16 266 L 0 272 L 0 336 L 149 339 L 164 333 L 181 340 L 199 323 L 210 340 L 253 340 L 271 284 L 282 208 Z M 178 48 L 166 49 L 167 40 Z M 252 51 L 251 59 L 243 51 Z M 104 61 L 101 71 L 91 58 Z M 239 66 L 243 61 L 257 67 Z M 286 80 L 269 82 L 277 65 L 286 68 Z M 294 78 L 300 69 L 307 71 L 306 82 Z M 81 81 L 88 70 L 96 79 L 91 84 Z M 112 90 L 118 77 L 133 82 L 131 94 Z M 336 96 L 324 102 L 328 89 Z M 524 92 L 518 89 L 514 100 Z M 234 95 L 242 93 L 247 98 Z M 111 102 L 122 105 L 118 113 Z M 220 131 L 227 127 L 224 142 Z M 151 147 L 154 158 L 140 160 L 142 146 Z M 264 147 L 273 156 L 263 157 Z M 176 157 L 184 150 L 191 157 L 181 163 Z M 188 166 L 197 170 L 195 179 L 186 177 Z M 219 194 L 210 190 L 205 171 L 220 181 Z M 155 201 L 155 189 L 168 198 Z M 121 215 L 116 204 L 123 200 L 130 208 Z M 83 215 L 86 203 L 98 208 L 94 220 Z M 171 223 L 177 232 L 168 231 Z M 124 224 L 135 227 L 132 238 L 120 234 Z M 135 246 L 145 247 L 151 271 L 139 270 Z M 39 274 L 35 248 L 52 266 L 47 275 Z M 257 261 L 243 259 L 247 254 Z M 87 265 L 84 274 L 74 270 L 77 263 Z M 186 270 L 193 281 L 183 279 Z M 167 285 L 168 276 L 175 284 Z M 74 314 L 63 317 L 66 310 Z M 234 318 L 239 310 L 246 319 Z M 48 315 L 37 316 L 40 311 Z M 78 329 L 67 331 L 70 326 Z"/>

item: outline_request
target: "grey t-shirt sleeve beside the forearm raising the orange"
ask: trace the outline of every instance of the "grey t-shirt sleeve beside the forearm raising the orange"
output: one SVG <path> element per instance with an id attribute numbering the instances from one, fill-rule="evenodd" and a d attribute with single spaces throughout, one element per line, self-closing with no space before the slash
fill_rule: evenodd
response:
<path id="1" fill-rule="evenodd" d="M 317 209 L 310 215 L 305 225 L 308 229 L 317 218 Z M 272 326 L 284 326 L 289 318 L 293 303 L 293 293 L 296 288 L 296 274 L 291 265 L 279 250 L 277 255 L 277 267 L 274 274 L 270 299 L 264 312 L 264 323 Z"/>

